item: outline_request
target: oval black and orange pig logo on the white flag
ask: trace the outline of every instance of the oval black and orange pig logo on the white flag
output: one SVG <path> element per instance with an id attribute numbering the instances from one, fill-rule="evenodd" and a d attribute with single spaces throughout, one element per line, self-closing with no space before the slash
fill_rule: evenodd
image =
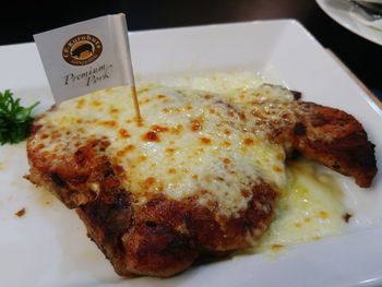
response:
<path id="1" fill-rule="evenodd" d="M 103 43 L 94 35 L 81 34 L 70 38 L 62 48 L 62 58 L 73 65 L 94 62 L 103 52 Z"/>

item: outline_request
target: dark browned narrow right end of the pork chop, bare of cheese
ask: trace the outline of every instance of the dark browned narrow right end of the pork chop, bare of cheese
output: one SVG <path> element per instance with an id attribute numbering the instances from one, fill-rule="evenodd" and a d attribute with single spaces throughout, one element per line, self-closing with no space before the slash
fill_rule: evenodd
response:
<path id="1" fill-rule="evenodd" d="M 307 158 L 353 176 L 359 187 L 370 187 L 377 174 L 377 160 L 374 145 L 368 141 L 362 125 L 338 109 L 313 103 L 299 103 L 296 108 L 293 147 Z"/>

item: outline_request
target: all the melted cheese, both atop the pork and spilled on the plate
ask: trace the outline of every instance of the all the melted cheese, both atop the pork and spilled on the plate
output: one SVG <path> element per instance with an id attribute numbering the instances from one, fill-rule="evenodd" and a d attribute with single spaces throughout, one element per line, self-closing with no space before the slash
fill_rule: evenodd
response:
<path id="1" fill-rule="evenodd" d="M 284 151 L 264 133 L 248 132 L 254 123 L 236 112 L 248 103 L 255 110 L 255 104 L 268 99 L 293 100 L 287 89 L 263 82 L 255 73 L 235 72 L 163 81 L 172 87 L 141 85 L 142 125 L 134 122 L 126 87 L 99 91 L 48 112 L 39 120 L 43 131 L 36 140 L 41 152 L 68 153 L 89 139 L 108 139 L 106 153 L 126 167 L 124 186 L 140 195 L 138 204 L 158 193 L 178 200 L 196 196 L 200 204 L 235 215 L 248 202 L 240 191 L 263 178 L 278 189 L 279 199 L 261 250 L 341 232 L 346 208 L 333 193 L 333 179 L 311 163 L 286 171 Z"/>

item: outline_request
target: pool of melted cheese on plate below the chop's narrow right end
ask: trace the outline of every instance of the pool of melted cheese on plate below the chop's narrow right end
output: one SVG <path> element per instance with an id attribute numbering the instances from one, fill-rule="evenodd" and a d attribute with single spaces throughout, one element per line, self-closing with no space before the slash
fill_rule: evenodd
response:
<path id="1" fill-rule="evenodd" d="M 279 194 L 276 217 L 256 250 L 282 247 L 341 234 L 348 214 L 335 179 L 306 159 L 290 163 L 288 183 Z"/>

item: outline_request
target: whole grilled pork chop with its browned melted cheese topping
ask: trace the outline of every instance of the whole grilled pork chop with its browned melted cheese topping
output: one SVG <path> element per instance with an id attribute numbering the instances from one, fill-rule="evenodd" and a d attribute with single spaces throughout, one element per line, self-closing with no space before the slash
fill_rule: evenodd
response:
<path id="1" fill-rule="evenodd" d="M 35 121 L 28 179 L 76 210 L 122 276 L 170 276 L 201 254 L 255 246 L 295 150 L 360 187 L 377 172 L 374 146 L 354 117 L 284 88 L 236 98 L 142 92 L 142 124 L 121 104 L 122 87 L 97 93 Z"/>

